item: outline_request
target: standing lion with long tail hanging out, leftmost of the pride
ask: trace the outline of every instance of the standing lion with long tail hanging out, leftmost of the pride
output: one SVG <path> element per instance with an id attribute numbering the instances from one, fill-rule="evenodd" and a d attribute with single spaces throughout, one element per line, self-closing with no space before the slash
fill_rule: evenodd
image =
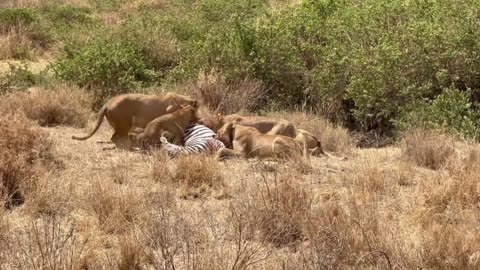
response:
<path id="1" fill-rule="evenodd" d="M 117 148 L 130 148 L 128 133 L 132 128 L 144 128 L 153 119 L 174 111 L 180 105 L 197 107 L 197 101 L 189 96 L 168 92 L 163 95 L 124 94 L 111 98 L 102 109 L 95 128 L 84 137 L 72 136 L 74 140 L 86 140 L 98 131 L 107 118 L 114 129 L 111 141 Z"/>

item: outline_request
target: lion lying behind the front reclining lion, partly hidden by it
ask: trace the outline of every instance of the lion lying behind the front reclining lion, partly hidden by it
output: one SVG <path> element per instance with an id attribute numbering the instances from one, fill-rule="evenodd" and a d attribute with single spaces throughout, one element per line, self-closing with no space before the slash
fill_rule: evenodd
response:
<path id="1" fill-rule="evenodd" d="M 337 158 L 332 154 L 323 151 L 322 144 L 315 135 L 303 129 L 296 129 L 292 123 L 287 120 L 276 120 L 262 116 L 241 116 L 238 114 L 220 115 L 203 118 L 199 123 L 209 127 L 213 131 L 217 131 L 227 123 L 234 123 L 242 126 L 254 127 L 258 131 L 266 135 L 283 135 L 294 138 L 307 149 L 311 150 L 311 155 L 327 155 Z M 343 158 L 341 158 L 343 159 Z"/>

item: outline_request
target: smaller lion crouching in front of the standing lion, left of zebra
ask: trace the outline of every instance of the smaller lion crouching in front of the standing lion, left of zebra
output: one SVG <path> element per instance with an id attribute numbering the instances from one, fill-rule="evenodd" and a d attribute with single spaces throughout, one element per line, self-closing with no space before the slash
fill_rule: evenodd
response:
<path id="1" fill-rule="evenodd" d="M 181 144 L 185 129 L 197 121 L 196 107 L 190 105 L 181 106 L 180 109 L 173 113 L 155 118 L 147 124 L 143 131 L 136 128 L 135 132 L 130 132 L 128 136 L 134 146 L 142 148 L 159 145 L 161 144 L 160 138 L 168 137 L 168 135 L 173 135 L 173 139 L 170 141 L 173 141 L 175 144 Z"/>

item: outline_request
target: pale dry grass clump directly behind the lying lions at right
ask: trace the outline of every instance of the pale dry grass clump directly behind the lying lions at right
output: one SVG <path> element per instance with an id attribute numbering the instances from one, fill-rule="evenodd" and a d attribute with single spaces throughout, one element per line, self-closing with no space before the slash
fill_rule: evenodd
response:
<path id="1" fill-rule="evenodd" d="M 315 135 L 326 151 L 348 153 L 353 148 L 353 140 L 348 130 L 334 126 L 318 115 L 305 112 L 269 113 L 269 117 L 290 121 L 295 128 L 300 128 Z"/>

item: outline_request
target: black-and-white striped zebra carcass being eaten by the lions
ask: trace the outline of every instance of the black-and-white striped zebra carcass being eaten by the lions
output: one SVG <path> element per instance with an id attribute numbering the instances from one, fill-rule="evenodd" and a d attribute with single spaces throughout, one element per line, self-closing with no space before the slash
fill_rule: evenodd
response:
<path id="1" fill-rule="evenodd" d="M 180 154 L 199 154 L 215 153 L 225 148 L 225 145 L 214 138 L 215 132 L 201 124 L 193 124 L 185 130 L 185 136 L 182 139 L 183 146 L 169 143 L 165 137 L 161 137 L 162 148 L 170 157 L 176 157 Z"/>

